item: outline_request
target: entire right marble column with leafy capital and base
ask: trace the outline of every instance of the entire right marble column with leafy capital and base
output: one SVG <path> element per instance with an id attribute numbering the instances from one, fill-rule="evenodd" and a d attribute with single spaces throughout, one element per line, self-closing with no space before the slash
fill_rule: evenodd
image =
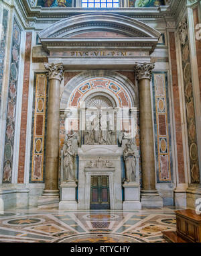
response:
<path id="1" fill-rule="evenodd" d="M 139 81 L 139 126 L 141 147 L 141 203 L 146 207 L 162 207 L 162 198 L 155 189 L 155 154 L 151 107 L 151 71 L 153 63 L 136 63 L 135 75 Z"/>

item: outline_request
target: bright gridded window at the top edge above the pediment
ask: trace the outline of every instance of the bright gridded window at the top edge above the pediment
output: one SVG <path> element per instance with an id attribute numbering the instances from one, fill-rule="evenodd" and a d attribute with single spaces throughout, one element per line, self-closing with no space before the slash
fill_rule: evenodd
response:
<path id="1" fill-rule="evenodd" d="M 118 8 L 119 0 L 82 0 L 84 8 Z"/>

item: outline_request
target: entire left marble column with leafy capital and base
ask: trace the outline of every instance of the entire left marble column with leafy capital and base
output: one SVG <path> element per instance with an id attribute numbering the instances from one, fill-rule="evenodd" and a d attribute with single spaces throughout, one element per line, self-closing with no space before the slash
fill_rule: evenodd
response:
<path id="1" fill-rule="evenodd" d="M 45 189 L 38 201 L 38 208 L 58 206 L 58 158 L 60 131 L 60 83 L 63 79 L 63 65 L 45 63 L 49 77 L 48 123 L 46 135 Z"/>

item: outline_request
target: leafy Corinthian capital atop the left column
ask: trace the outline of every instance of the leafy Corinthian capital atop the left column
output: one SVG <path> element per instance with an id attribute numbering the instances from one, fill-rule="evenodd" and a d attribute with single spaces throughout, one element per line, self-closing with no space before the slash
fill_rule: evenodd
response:
<path id="1" fill-rule="evenodd" d="M 64 67 L 62 63 L 44 63 L 44 66 L 48 70 L 49 79 L 58 79 L 62 81 L 64 78 Z"/>

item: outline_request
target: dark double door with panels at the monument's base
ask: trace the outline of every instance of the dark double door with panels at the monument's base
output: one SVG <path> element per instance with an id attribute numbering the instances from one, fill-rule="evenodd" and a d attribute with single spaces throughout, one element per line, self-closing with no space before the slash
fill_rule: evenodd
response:
<path id="1" fill-rule="evenodd" d="M 110 209 L 109 176 L 91 176 L 90 209 Z"/>

